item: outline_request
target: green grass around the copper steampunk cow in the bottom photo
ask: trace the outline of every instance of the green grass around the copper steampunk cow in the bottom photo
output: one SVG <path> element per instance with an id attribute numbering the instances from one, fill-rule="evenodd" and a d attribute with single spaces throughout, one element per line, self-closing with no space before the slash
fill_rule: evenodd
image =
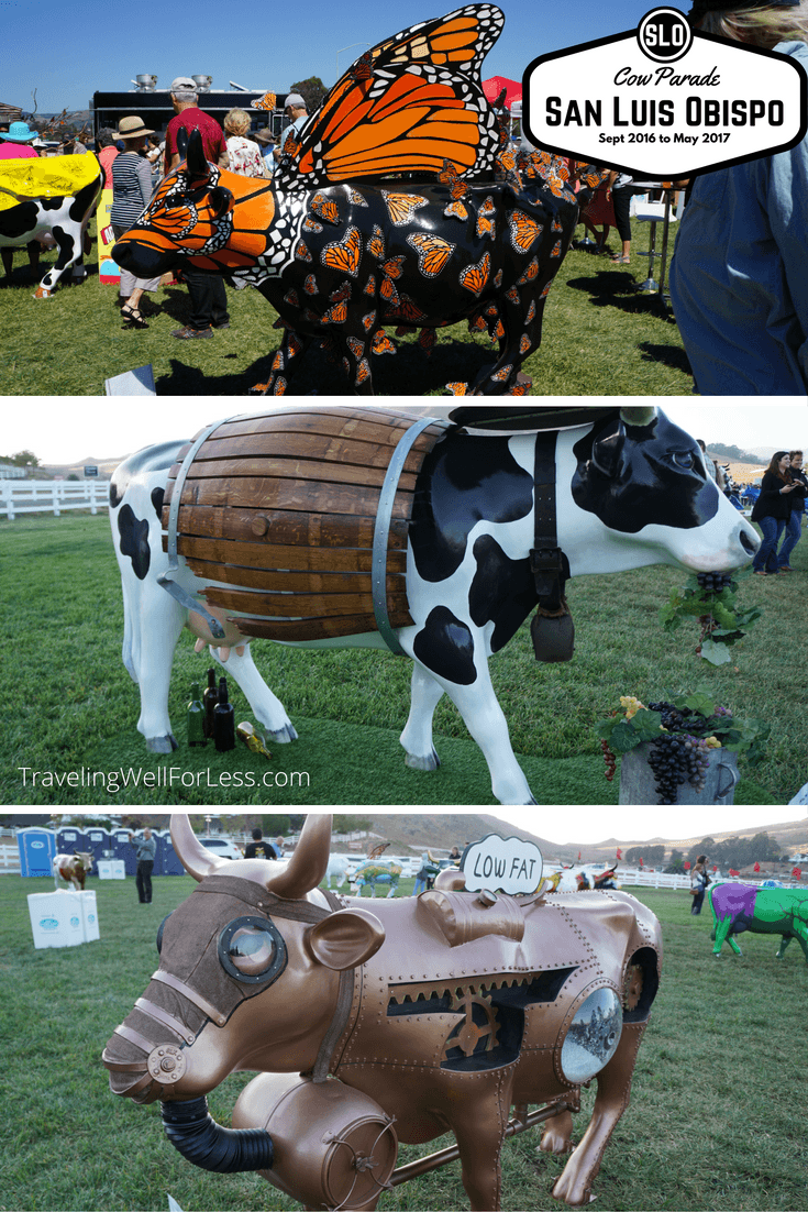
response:
<path id="1" fill-rule="evenodd" d="M 190 876 L 154 882 L 154 903 L 139 905 L 133 880 L 91 879 L 101 941 L 35 950 L 25 896 L 51 891 L 51 881 L 0 879 L 0 1212 L 165 1212 L 168 1193 L 185 1212 L 298 1207 L 257 1174 L 208 1174 L 191 1166 L 165 1140 L 159 1107 L 136 1107 L 108 1088 L 101 1052 L 156 967 L 160 921 L 194 887 Z M 412 880 L 403 881 L 401 892 L 411 891 Z M 716 960 L 706 905 L 692 917 L 684 892 L 634 891 L 663 926 L 663 983 L 631 1105 L 595 1183 L 597 1207 L 804 1208 L 808 970 L 801 950 L 792 944 L 779 961 L 775 939 L 745 934 L 743 957 L 724 949 Z M 251 1077 L 233 1075 L 211 1094 L 219 1122 L 230 1122 Z M 584 1092 L 574 1140 L 594 1094 L 594 1086 Z M 505 1210 L 563 1206 L 550 1195 L 563 1160 L 537 1155 L 538 1139 L 532 1131 L 504 1147 Z M 399 1164 L 448 1143 L 405 1145 Z M 380 1202 L 385 1212 L 464 1207 L 458 1164 L 399 1187 Z"/>

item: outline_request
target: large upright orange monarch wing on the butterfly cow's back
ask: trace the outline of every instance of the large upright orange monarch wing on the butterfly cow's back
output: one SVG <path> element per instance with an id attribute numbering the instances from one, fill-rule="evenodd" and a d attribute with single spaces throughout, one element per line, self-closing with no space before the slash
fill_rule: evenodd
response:
<path id="1" fill-rule="evenodd" d="M 445 160 L 462 172 L 491 171 L 499 132 L 480 73 L 503 25 L 495 5 L 469 4 L 372 47 L 302 127 L 274 184 L 299 191 L 440 171 Z"/>

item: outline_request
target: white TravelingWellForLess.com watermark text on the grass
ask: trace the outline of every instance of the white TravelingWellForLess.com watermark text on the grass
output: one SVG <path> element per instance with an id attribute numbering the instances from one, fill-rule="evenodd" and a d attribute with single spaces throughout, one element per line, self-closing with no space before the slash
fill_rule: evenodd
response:
<path id="1" fill-rule="evenodd" d="M 258 787 L 309 787 L 306 771 L 268 770 L 257 774 L 252 770 L 183 770 L 180 766 L 160 766 L 157 770 L 143 770 L 137 766 L 121 766 L 119 770 L 92 770 L 82 766 L 80 770 L 55 771 L 35 770 L 33 766 L 18 766 L 23 787 L 80 788 L 105 791 L 118 795 L 125 788 L 205 788 L 218 791 L 230 788 Z"/>

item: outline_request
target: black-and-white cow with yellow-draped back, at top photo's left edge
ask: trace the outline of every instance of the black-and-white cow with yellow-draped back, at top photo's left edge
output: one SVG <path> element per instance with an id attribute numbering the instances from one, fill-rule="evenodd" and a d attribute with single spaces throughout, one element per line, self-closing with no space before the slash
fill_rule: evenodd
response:
<path id="1" fill-rule="evenodd" d="M 53 241 L 59 250 L 56 263 L 36 287 L 34 298 L 51 298 L 68 269 L 73 269 L 74 278 L 84 276 L 85 231 L 96 212 L 104 184 L 98 160 L 90 153 L 87 155 L 98 171 L 75 194 L 41 198 L 15 195 L 18 199 L 16 205 L 0 210 L 0 248 L 21 248 L 31 240 L 41 240 L 44 244 Z M 81 159 L 85 160 L 86 156 Z M 4 193 L 7 195 L 10 190 Z"/>

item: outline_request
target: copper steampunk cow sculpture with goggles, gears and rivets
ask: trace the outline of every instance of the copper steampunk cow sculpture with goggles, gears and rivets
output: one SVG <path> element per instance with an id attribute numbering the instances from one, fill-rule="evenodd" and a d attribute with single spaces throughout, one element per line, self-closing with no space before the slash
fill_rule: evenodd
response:
<path id="1" fill-rule="evenodd" d="M 224 863 L 187 816 L 172 818 L 172 839 L 199 886 L 164 922 L 160 966 L 103 1059 L 115 1093 L 162 1103 L 189 1161 L 258 1170 L 311 1208 L 371 1210 L 413 1173 L 392 1170 L 396 1138 L 448 1127 L 471 1207 L 495 1210 L 506 1136 L 548 1121 L 541 1149 L 566 1153 L 580 1086 L 597 1077 L 554 1188 L 569 1205 L 590 1200 L 657 994 L 648 909 L 621 892 L 476 894 L 447 871 L 369 913 L 317 888 L 329 816 L 308 817 L 285 865 Z M 206 1096 L 240 1069 L 259 1076 L 234 1131 Z M 529 1103 L 546 1105 L 528 1115 Z"/>

